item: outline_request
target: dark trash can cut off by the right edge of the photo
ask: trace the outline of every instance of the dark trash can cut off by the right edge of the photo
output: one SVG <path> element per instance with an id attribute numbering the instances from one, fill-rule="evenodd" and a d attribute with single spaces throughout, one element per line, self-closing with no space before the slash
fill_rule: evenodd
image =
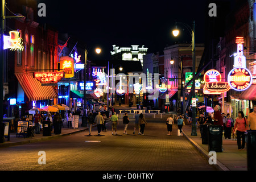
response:
<path id="1" fill-rule="evenodd" d="M 247 149 L 247 170 L 256 171 L 256 130 L 245 133 Z"/>

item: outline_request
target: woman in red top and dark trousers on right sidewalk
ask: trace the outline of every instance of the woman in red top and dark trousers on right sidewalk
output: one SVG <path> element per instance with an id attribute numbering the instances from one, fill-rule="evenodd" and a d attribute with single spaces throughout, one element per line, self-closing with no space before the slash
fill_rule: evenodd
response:
<path id="1" fill-rule="evenodd" d="M 234 126 L 233 133 L 237 130 L 237 146 L 238 150 L 243 150 L 245 148 L 245 131 L 247 130 L 247 119 L 245 118 L 245 114 L 243 111 L 238 111 L 238 117 L 236 118 L 236 123 Z M 241 138 L 242 138 L 242 146 L 241 146 Z"/>

